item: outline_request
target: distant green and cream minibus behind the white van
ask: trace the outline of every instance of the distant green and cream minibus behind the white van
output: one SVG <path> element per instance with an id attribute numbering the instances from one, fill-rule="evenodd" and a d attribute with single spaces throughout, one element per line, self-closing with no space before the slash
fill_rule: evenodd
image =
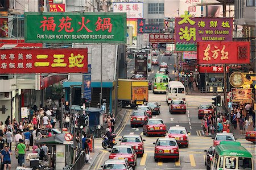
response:
<path id="1" fill-rule="evenodd" d="M 167 74 L 156 73 L 153 80 L 153 93 L 166 93 L 166 88 L 169 81 L 170 78 L 167 76 Z"/>

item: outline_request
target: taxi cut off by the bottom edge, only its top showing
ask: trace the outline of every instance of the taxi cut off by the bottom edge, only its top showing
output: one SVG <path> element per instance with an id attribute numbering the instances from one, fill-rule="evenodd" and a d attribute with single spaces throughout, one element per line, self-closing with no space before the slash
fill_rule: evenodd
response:
<path id="1" fill-rule="evenodd" d="M 101 166 L 102 170 L 112 169 L 112 170 L 131 170 L 133 169 L 126 159 L 108 159 L 105 160 L 104 165 Z"/>

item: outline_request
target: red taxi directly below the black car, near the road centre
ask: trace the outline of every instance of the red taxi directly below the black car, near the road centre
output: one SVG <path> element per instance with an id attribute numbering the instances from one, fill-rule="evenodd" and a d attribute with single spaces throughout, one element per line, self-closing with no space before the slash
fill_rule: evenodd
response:
<path id="1" fill-rule="evenodd" d="M 166 124 L 162 119 L 147 119 L 143 125 L 143 134 L 148 135 L 166 135 Z"/>

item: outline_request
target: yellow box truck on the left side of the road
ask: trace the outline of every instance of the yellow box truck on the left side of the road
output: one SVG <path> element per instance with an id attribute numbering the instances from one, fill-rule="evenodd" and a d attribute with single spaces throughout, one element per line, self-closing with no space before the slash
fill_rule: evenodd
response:
<path id="1" fill-rule="evenodd" d="M 148 80 L 118 79 L 118 99 L 122 106 L 135 107 L 148 101 Z"/>

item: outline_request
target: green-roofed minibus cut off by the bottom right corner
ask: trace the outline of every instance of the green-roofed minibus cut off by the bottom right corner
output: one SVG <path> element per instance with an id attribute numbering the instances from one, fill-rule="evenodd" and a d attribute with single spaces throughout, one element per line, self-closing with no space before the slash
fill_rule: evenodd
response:
<path id="1" fill-rule="evenodd" d="M 211 169 L 248 169 L 252 170 L 253 156 L 240 142 L 221 141 L 214 149 Z"/>

